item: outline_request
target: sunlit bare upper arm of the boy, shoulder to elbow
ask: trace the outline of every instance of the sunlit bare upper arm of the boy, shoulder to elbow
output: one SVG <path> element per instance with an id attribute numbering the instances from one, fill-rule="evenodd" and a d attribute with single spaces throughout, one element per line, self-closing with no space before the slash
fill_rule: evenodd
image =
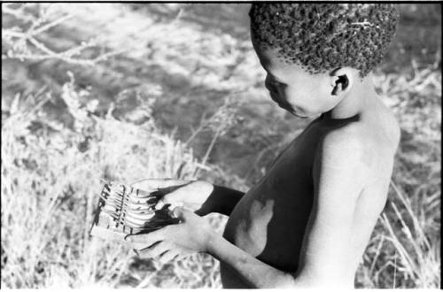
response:
<path id="1" fill-rule="evenodd" d="M 300 263 L 305 276 L 329 282 L 346 271 L 355 203 L 368 173 L 365 147 L 358 136 L 334 133 L 315 154 L 315 199 Z"/>

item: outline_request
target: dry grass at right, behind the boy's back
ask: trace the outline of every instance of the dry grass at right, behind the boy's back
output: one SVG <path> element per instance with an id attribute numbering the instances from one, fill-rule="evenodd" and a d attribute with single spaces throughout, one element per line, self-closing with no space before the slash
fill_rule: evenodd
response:
<path id="1" fill-rule="evenodd" d="M 439 288 L 441 73 L 429 65 L 377 77 L 400 121 L 401 142 L 385 211 L 357 273 L 357 286 Z"/>

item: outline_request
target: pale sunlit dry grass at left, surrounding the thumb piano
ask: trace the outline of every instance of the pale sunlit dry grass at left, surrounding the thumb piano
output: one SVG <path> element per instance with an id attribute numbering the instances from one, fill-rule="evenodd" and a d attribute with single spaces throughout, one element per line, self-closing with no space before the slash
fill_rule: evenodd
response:
<path id="1" fill-rule="evenodd" d="M 131 250 L 89 237 L 103 176 L 128 182 L 146 177 L 192 179 L 201 165 L 181 142 L 161 134 L 152 120 L 135 126 L 111 115 L 89 115 L 86 105 L 78 102 L 79 95 L 87 94 L 76 91 L 73 81 L 66 83 L 61 96 L 52 96 L 68 105 L 72 128 L 48 123 L 44 111 L 30 102 L 49 94 L 17 101 L 17 110 L 4 119 L 4 287 L 118 287 L 125 282 L 142 287 L 216 286 L 212 258 L 193 256 L 162 270 L 158 263 L 137 261 Z M 149 274 L 147 281 L 139 265 L 160 272 Z M 189 281 L 203 273 L 208 277 Z"/>

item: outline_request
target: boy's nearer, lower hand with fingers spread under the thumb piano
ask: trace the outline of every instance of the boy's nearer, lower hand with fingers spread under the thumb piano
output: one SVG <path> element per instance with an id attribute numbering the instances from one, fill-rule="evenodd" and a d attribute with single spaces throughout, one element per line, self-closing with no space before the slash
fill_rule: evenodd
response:
<path id="1" fill-rule="evenodd" d="M 214 234 L 209 222 L 182 207 L 176 207 L 173 213 L 181 223 L 162 227 L 149 234 L 131 234 L 126 237 L 139 257 L 155 258 L 167 263 L 178 256 L 206 252 Z"/>

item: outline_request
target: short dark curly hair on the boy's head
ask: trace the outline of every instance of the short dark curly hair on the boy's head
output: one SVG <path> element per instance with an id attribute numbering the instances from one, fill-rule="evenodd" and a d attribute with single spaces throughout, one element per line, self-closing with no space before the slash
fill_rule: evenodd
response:
<path id="1" fill-rule="evenodd" d="M 393 4 L 253 4 L 251 34 L 262 49 L 309 73 L 350 66 L 366 76 L 381 62 L 399 14 Z"/>

